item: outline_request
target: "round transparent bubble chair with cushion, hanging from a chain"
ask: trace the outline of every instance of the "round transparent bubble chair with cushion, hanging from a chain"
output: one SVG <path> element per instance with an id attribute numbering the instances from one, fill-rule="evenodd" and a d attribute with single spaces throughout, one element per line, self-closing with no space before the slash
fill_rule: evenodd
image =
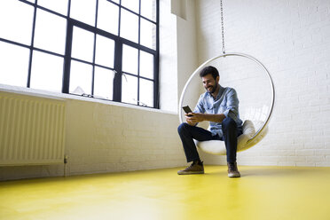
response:
<path id="1" fill-rule="evenodd" d="M 268 131 L 275 101 L 274 83 L 271 74 L 263 64 L 243 53 L 229 52 L 208 59 L 198 67 L 185 83 L 179 101 L 179 120 L 185 122 L 183 106 L 195 106 L 200 94 L 205 92 L 200 80 L 200 70 L 207 66 L 216 67 L 220 74 L 220 85 L 237 91 L 240 100 L 240 119 L 243 121 L 243 134 L 238 137 L 238 152 L 260 142 Z M 200 127 L 207 124 L 201 122 Z M 197 147 L 212 154 L 225 155 L 224 141 L 197 141 Z"/>

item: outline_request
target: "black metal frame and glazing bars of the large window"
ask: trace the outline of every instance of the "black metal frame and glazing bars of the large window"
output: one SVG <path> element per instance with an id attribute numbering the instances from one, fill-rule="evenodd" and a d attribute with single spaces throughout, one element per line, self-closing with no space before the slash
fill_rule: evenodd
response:
<path id="1" fill-rule="evenodd" d="M 94 97 L 93 90 L 94 90 L 94 69 L 95 67 L 103 67 L 109 70 L 114 70 L 114 84 L 113 84 L 113 99 L 112 101 L 115 102 L 122 102 L 122 75 L 131 75 L 130 73 L 122 72 L 122 46 L 123 44 L 128 45 L 130 47 L 136 48 L 138 50 L 138 65 L 140 63 L 140 51 L 145 51 L 147 53 L 150 53 L 153 55 L 153 79 L 146 78 L 144 76 L 139 75 L 139 67 L 138 67 L 138 75 L 134 75 L 138 78 L 138 104 L 137 106 L 145 106 L 143 103 L 141 103 L 139 100 L 139 79 L 145 79 L 148 81 L 153 82 L 153 106 L 152 108 L 159 108 L 159 0 L 155 0 L 156 4 L 156 20 L 150 20 L 148 18 L 145 18 L 141 15 L 141 0 L 139 1 L 139 12 L 133 12 L 129 8 L 122 6 L 122 0 L 119 1 L 119 4 L 117 4 L 114 1 L 106 0 L 108 2 L 111 2 L 112 4 L 116 4 L 119 6 L 119 24 L 118 24 L 118 35 L 114 35 L 112 33 L 106 32 L 105 30 L 102 30 L 97 27 L 98 22 L 98 0 L 96 0 L 96 19 L 95 19 L 95 25 L 90 26 L 89 24 L 83 23 L 80 20 L 75 20 L 70 17 L 70 8 L 71 8 L 71 0 L 68 0 L 68 7 L 67 7 L 67 15 L 63 15 L 59 12 L 54 12 L 48 8 L 45 8 L 41 5 L 37 4 L 38 0 L 35 0 L 35 3 L 31 3 L 27 0 L 18 0 L 22 3 L 29 4 L 34 7 L 34 16 L 33 16 L 33 25 L 32 25 L 32 36 L 31 36 L 31 43 L 30 45 L 23 44 L 23 43 L 17 43 L 10 39 L 4 39 L 0 37 L 0 41 L 5 43 L 12 43 L 21 47 L 25 47 L 29 49 L 29 60 L 28 60 L 28 70 L 27 70 L 27 88 L 30 88 L 30 80 L 31 80 L 31 68 L 32 68 L 32 59 L 33 59 L 33 53 L 34 51 L 41 51 L 45 52 L 54 56 L 58 56 L 64 59 L 64 67 L 63 67 L 63 80 L 62 80 L 62 93 L 72 94 L 69 92 L 69 85 L 70 85 L 70 67 L 71 67 L 71 60 L 88 63 L 92 65 L 92 82 L 91 82 L 91 94 L 88 94 L 88 97 L 98 98 Z M 43 50 L 41 48 L 36 48 L 34 45 L 35 42 L 35 20 L 36 20 L 36 11 L 37 9 L 43 10 L 45 12 L 50 12 L 52 14 L 55 14 L 61 18 L 64 18 L 67 20 L 67 37 L 66 37 L 66 45 L 65 45 L 65 54 L 59 54 L 52 51 Z M 138 16 L 138 43 L 132 42 L 128 39 L 122 38 L 120 36 L 120 24 L 121 24 L 121 12 L 122 10 L 126 10 L 128 12 L 131 12 Z M 148 47 L 145 47 L 144 45 L 140 44 L 140 23 L 141 19 L 147 20 L 149 22 L 152 22 L 156 27 L 156 42 L 155 42 L 155 49 L 151 49 Z M 80 27 L 84 30 L 90 31 L 94 34 L 94 51 L 93 51 L 93 61 L 87 62 L 81 59 L 75 59 L 71 57 L 71 51 L 72 51 L 72 40 L 73 40 L 73 29 L 74 27 Z M 95 64 L 95 50 L 96 50 L 96 35 L 102 35 L 106 38 L 110 38 L 114 40 L 114 68 L 110 67 L 104 67 L 98 64 Z M 74 94 L 73 94 L 74 95 Z M 106 99 L 106 98 L 100 98 L 100 99 Z M 106 99 L 107 100 L 107 99 Z M 133 104 L 134 105 L 134 104 Z M 150 106 L 147 106 L 150 107 Z"/>

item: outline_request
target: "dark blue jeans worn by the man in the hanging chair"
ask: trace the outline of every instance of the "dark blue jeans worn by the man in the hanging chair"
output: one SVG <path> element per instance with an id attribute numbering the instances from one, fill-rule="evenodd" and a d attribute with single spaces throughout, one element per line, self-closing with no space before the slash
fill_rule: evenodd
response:
<path id="1" fill-rule="evenodd" d="M 177 128 L 182 144 L 185 149 L 185 157 L 187 162 L 200 160 L 200 155 L 197 152 L 196 145 L 193 139 L 204 140 L 223 140 L 227 152 L 227 161 L 236 161 L 237 152 L 237 137 L 242 134 L 241 129 L 238 128 L 235 121 L 230 117 L 226 117 L 222 122 L 222 129 L 224 137 L 220 138 L 218 135 L 212 136 L 212 133 L 208 130 L 204 130 L 200 127 L 191 126 L 188 123 L 182 123 Z"/>

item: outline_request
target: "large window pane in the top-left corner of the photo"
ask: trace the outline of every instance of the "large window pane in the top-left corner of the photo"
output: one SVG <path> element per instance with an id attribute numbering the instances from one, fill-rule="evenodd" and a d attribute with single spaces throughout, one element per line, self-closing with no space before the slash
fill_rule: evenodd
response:
<path id="1" fill-rule="evenodd" d="M 30 45 L 34 7 L 20 1 L 0 1 L 0 37 Z"/>

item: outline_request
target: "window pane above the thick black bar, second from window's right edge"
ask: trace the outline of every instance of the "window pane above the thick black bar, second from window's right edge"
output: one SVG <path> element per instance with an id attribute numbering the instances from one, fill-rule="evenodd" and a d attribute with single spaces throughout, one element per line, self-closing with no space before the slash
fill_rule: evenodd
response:
<path id="1" fill-rule="evenodd" d="M 121 36 L 138 43 L 138 16 L 124 9 L 121 14 Z"/>

